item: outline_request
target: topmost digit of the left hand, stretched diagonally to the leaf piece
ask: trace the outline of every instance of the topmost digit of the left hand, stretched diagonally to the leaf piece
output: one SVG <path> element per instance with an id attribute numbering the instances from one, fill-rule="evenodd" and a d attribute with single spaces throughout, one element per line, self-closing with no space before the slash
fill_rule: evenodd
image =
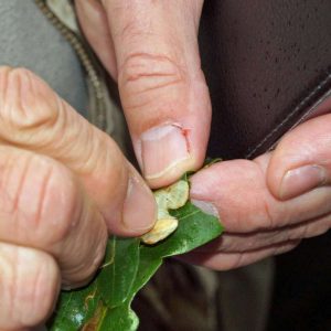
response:
<path id="1" fill-rule="evenodd" d="M 42 79 L 26 70 L 1 67 L 0 100 L 2 142 L 49 156 L 73 170 L 115 234 L 139 235 L 152 226 L 156 202 L 138 172 L 114 140 Z"/>

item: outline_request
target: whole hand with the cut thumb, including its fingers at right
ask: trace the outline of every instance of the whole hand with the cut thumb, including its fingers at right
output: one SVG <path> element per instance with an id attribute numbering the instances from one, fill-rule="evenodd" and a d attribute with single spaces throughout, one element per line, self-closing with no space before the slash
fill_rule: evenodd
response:
<path id="1" fill-rule="evenodd" d="M 76 0 L 76 4 L 88 41 L 118 82 L 149 185 L 169 184 L 184 171 L 200 168 L 211 120 L 197 49 L 203 1 Z M 328 107 L 331 110 L 330 102 Z M 330 125 L 331 115 L 310 119 L 270 153 L 197 172 L 191 199 L 218 214 L 226 232 L 185 259 L 225 270 L 287 252 L 301 239 L 327 232 Z"/>

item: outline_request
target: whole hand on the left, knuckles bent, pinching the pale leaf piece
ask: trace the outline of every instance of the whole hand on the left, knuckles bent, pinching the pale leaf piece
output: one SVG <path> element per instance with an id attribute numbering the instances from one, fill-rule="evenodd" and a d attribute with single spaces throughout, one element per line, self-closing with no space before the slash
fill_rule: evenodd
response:
<path id="1" fill-rule="evenodd" d="M 61 287 L 86 284 L 107 228 L 153 225 L 152 193 L 116 143 L 22 68 L 0 67 L 0 170 L 1 330 L 44 321 Z"/>

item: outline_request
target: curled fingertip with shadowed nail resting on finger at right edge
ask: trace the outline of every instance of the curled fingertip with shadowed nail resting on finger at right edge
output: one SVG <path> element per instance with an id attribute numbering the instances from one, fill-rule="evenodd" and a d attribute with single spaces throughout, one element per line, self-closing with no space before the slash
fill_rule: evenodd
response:
<path id="1" fill-rule="evenodd" d="M 330 184 L 331 115 L 306 121 L 284 137 L 267 172 L 273 194 L 287 200 Z"/>

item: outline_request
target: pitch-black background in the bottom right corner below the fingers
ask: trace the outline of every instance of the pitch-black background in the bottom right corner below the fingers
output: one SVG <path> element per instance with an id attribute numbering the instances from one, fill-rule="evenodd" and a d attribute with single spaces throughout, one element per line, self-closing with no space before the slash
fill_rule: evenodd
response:
<path id="1" fill-rule="evenodd" d="M 276 258 L 267 330 L 331 330 L 331 232 Z"/>

